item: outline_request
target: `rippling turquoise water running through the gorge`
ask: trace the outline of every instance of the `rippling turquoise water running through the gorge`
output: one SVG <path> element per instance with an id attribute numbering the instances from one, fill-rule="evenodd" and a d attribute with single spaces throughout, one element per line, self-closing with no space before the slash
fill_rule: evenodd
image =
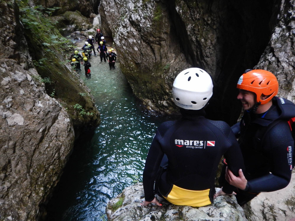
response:
<path id="1" fill-rule="evenodd" d="M 168 120 L 145 110 L 116 62 L 94 57 L 91 79 L 81 77 L 95 98 L 101 125 L 91 141 L 76 147 L 47 208 L 46 220 L 105 220 L 109 199 L 133 181 L 142 181 L 142 171 L 157 126 Z M 83 67 L 83 66 L 82 66 Z"/>

